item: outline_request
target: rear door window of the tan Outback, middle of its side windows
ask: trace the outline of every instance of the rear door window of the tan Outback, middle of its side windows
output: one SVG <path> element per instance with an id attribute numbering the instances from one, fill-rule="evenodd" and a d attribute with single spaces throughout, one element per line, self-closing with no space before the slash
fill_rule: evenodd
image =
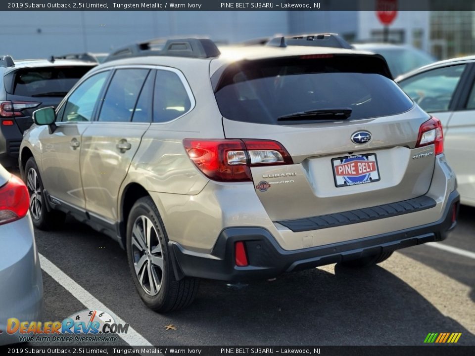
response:
<path id="1" fill-rule="evenodd" d="M 104 96 L 99 113 L 102 122 L 130 122 L 149 69 L 118 69 Z"/>

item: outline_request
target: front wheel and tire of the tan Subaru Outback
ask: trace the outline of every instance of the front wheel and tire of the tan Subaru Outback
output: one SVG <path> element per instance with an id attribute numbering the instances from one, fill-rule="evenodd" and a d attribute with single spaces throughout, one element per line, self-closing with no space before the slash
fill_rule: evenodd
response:
<path id="1" fill-rule="evenodd" d="M 25 184 L 30 195 L 30 215 L 33 225 L 40 230 L 52 230 L 63 225 L 66 214 L 57 210 L 47 211 L 40 170 L 33 157 L 25 165 Z"/>

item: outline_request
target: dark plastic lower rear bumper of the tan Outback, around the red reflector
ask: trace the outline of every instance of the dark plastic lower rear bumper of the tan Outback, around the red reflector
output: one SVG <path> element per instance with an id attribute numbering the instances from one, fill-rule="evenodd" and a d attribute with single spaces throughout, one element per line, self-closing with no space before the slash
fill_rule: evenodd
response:
<path id="1" fill-rule="evenodd" d="M 266 279 L 284 272 L 441 241 L 446 238 L 446 232 L 456 225 L 452 222 L 453 209 L 455 207 L 458 210 L 459 201 L 460 196 L 454 190 L 447 199 L 442 217 L 434 223 L 295 251 L 282 249 L 271 233 L 260 227 L 224 229 L 209 254 L 196 253 L 176 242 L 170 242 L 175 255 L 175 273 L 178 278 L 191 276 L 225 281 Z M 234 245 L 237 241 L 245 243 L 249 266 L 235 265 Z"/>

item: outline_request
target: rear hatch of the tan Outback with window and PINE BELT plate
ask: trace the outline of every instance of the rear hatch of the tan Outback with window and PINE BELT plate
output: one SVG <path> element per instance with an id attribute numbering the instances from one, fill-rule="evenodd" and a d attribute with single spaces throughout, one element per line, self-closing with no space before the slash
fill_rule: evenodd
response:
<path id="1" fill-rule="evenodd" d="M 430 117 L 390 79 L 380 56 L 241 61 L 212 82 L 226 138 L 281 145 L 274 154 L 283 162 L 249 164 L 256 193 L 273 221 L 427 193 L 433 145 L 415 146 Z M 414 158 L 427 152 L 432 153 Z M 285 162 L 287 153 L 291 164 Z"/>

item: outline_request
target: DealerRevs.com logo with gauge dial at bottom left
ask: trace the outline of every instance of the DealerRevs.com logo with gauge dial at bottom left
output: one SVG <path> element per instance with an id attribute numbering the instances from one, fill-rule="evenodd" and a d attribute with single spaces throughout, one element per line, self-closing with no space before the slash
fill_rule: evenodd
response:
<path id="1" fill-rule="evenodd" d="M 125 334 L 129 330 L 129 324 L 116 323 L 109 313 L 99 310 L 84 310 L 63 321 L 20 321 L 9 318 L 6 325 L 6 332 L 10 335 L 18 333 L 20 342 L 116 341 L 116 334 Z"/>

